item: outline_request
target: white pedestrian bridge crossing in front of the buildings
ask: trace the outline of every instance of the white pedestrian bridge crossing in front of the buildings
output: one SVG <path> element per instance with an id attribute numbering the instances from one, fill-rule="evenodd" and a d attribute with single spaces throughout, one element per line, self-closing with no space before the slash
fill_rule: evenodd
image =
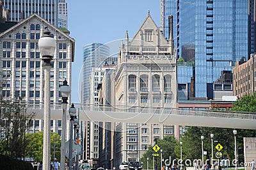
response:
<path id="1" fill-rule="evenodd" d="M 196 127 L 242 128 L 256 130 L 256 113 L 230 111 L 188 111 L 171 108 L 124 107 L 75 104 L 80 121 L 147 123 Z M 35 119 L 44 117 L 44 105 L 28 105 Z M 51 120 L 61 120 L 61 105 L 51 106 Z M 69 117 L 67 111 L 67 117 Z M 68 118 L 67 118 L 68 120 Z"/>

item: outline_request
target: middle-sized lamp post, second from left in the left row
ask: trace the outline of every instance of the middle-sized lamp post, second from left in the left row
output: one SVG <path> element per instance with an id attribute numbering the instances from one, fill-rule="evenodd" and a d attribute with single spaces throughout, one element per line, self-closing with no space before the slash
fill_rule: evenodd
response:
<path id="1" fill-rule="evenodd" d="M 60 155 L 60 169 L 65 169 L 65 143 L 66 143 L 66 129 L 67 129 L 67 104 L 68 96 L 70 95 L 70 87 L 68 82 L 63 81 L 62 86 L 60 86 L 60 93 L 62 97 L 61 107 L 63 109 L 62 121 L 61 121 L 61 155 Z"/>

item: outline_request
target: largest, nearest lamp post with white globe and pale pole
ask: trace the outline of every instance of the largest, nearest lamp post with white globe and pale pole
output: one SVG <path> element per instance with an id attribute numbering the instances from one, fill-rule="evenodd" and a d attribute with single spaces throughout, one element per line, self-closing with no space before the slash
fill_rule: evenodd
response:
<path id="1" fill-rule="evenodd" d="M 38 48 L 42 56 L 44 70 L 44 148 L 43 168 L 48 169 L 51 163 L 51 104 L 50 104 L 50 70 L 51 60 L 56 48 L 56 40 L 51 32 L 45 27 L 44 35 L 38 40 Z"/>

